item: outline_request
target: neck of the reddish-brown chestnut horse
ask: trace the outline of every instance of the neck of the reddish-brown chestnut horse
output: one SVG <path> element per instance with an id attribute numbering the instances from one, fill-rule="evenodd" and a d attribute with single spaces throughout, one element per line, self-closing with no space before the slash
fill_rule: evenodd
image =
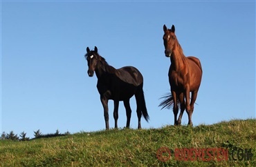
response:
<path id="1" fill-rule="evenodd" d="M 174 69 L 177 71 L 181 70 L 185 66 L 185 55 L 183 54 L 183 50 L 178 41 L 175 43 L 170 59 Z"/>

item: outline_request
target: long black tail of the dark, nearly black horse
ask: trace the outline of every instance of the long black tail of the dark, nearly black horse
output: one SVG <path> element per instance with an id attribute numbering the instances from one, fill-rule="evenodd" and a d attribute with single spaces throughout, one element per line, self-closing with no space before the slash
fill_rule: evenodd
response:
<path id="1" fill-rule="evenodd" d="M 146 101 L 145 101 L 144 92 L 143 92 L 143 84 L 141 84 L 139 87 L 140 88 L 138 88 L 138 92 L 136 93 L 136 101 L 137 101 L 137 103 L 140 103 L 140 108 L 141 108 L 143 117 L 148 122 L 149 115 L 147 113 Z M 138 106 L 138 104 L 137 104 L 137 106 Z"/>

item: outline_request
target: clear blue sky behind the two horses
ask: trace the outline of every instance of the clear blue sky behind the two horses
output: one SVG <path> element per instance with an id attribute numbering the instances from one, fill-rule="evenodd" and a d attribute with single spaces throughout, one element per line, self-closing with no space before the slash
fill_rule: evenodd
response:
<path id="1" fill-rule="evenodd" d="M 163 24 L 174 24 L 184 54 L 203 66 L 194 126 L 255 118 L 255 1 L 1 1 L 1 132 L 103 130 L 87 46 L 115 68 L 142 72 L 143 128 L 173 125 L 172 110 L 158 107 L 170 92 Z M 134 97 L 131 109 L 137 128 Z M 113 101 L 109 121 L 113 128 Z M 125 124 L 120 102 L 118 126 Z"/>

